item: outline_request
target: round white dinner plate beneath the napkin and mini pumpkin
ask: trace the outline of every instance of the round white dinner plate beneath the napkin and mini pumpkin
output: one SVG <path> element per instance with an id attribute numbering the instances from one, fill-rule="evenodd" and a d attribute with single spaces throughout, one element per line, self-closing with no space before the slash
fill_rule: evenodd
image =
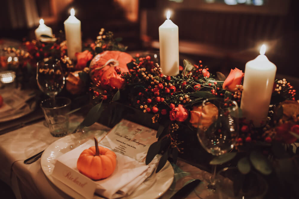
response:
<path id="1" fill-rule="evenodd" d="M 63 138 L 52 143 L 48 146 L 47 149 L 42 154 L 41 157 L 41 167 L 42 171 L 45 173 L 45 176 L 59 189 L 65 192 L 67 195 L 73 198 L 84 198 L 73 189 L 60 182 L 56 178 L 52 177 L 52 172 L 55 166 L 56 159 L 65 154 L 66 152 L 74 149 L 80 144 L 85 143 L 88 139 L 91 139 L 93 136 L 100 136 L 104 132 L 109 131 L 108 127 L 103 125 L 98 125 L 97 131 L 89 131 L 84 133 L 75 133 L 67 135 Z M 77 146 L 76 146 L 77 145 Z M 149 176 L 131 195 L 123 197 L 126 199 L 144 199 L 144 198 L 159 198 L 163 195 L 170 187 L 173 182 L 174 171 L 171 164 L 167 161 L 165 166 L 161 169 L 160 172 L 155 173 Z M 101 198 L 100 196 L 94 195 L 94 198 Z"/>

